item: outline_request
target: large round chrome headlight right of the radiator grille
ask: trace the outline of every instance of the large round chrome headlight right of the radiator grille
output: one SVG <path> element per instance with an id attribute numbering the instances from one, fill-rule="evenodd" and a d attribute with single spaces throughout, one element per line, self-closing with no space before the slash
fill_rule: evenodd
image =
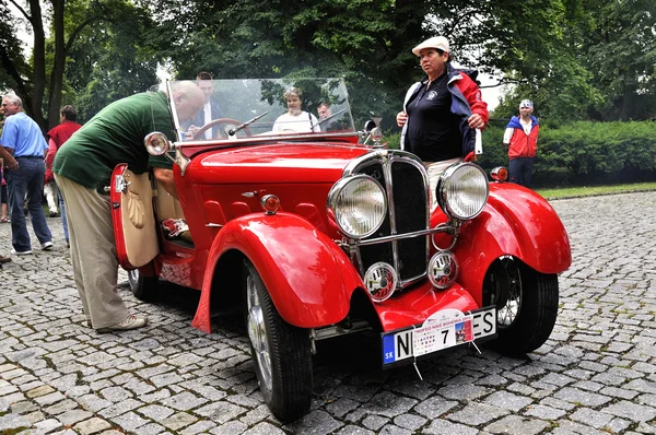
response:
<path id="1" fill-rule="evenodd" d="M 488 176 L 473 163 L 449 166 L 437 181 L 437 203 L 449 219 L 478 216 L 488 202 Z"/>

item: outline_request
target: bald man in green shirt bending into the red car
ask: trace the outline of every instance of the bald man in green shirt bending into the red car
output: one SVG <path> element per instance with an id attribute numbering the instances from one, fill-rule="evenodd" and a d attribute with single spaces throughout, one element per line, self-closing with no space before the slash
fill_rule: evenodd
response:
<path id="1" fill-rule="evenodd" d="M 204 104 L 203 93 L 194 82 L 176 82 L 172 92 L 180 121 L 192 118 Z M 160 185 L 177 198 L 171 161 L 151 156 L 143 145 L 143 138 L 152 131 L 175 137 L 163 92 L 112 103 L 66 142 L 52 163 L 67 210 L 75 286 L 84 315 L 98 332 L 148 324 L 148 318 L 128 313 L 117 293 L 114 226 L 109 197 L 103 189 L 109 186 L 116 165 L 127 163 L 137 174 L 152 167 Z"/>

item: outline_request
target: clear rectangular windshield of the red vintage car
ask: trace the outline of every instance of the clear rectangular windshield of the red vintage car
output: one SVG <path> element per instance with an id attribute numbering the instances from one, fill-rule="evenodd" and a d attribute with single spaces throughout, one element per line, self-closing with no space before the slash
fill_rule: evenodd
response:
<path id="1" fill-rule="evenodd" d="M 199 97 L 197 85 L 204 98 Z M 343 79 L 168 81 L 176 141 L 355 131 Z M 196 97 L 178 97 L 180 93 Z M 174 104 L 175 102 L 175 104 Z"/>

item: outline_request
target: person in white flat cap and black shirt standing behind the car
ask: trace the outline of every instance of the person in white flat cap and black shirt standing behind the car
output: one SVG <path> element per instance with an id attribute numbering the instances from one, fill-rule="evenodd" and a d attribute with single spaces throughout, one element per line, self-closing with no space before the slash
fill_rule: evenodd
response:
<path id="1" fill-rule="evenodd" d="M 447 38 L 429 38 L 412 52 L 419 56 L 426 77 L 406 93 L 397 125 L 402 127 L 401 150 L 412 152 L 426 166 L 434 209 L 440 174 L 473 156 L 475 129 L 488 124 L 488 105 L 476 82 L 450 64 Z"/>

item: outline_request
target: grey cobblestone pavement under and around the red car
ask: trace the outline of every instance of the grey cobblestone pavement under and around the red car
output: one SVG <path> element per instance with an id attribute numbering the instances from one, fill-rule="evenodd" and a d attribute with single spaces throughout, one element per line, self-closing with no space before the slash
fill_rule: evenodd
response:
<path id="1" fill-rule="evenodd" d="M 151 324 L 90 330 L 49 219 L 56 249 L 0 270 L 0 433 L 655 434 L 656 192 L 553 205 L 574 263 L 546 345 L 437 355 L 419 363 L 422 381 L 412 366 L 380 371 L 366 337 L 320 343 L 312 411 L 288 425 L 260 398 L 239 316 L 212 336 L 191 328 L 196 292 L 142 304 L 121 272 Z M 4 255 L 9 234 L 0 224 Z"/>

